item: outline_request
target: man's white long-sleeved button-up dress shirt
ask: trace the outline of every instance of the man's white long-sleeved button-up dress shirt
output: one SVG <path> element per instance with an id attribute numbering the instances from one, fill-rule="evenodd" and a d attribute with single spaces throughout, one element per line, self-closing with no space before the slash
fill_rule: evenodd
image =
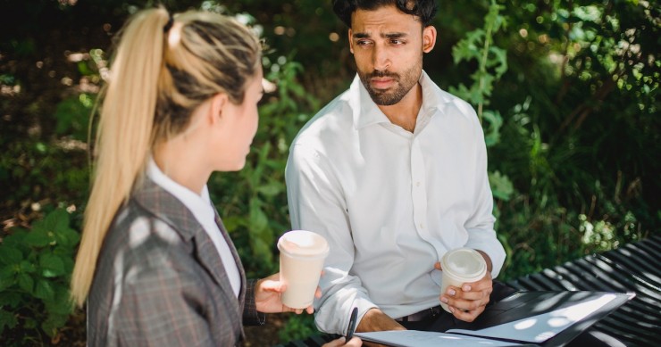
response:
<path id="1" fill-rule="evenodd" d="M 298 133 L 286 169 L 292 228 L 328 240 L 315 300 L 320 330 L 345 334 L 349 312 L 399 318 L 439 305 L 445 252 L 486 252 L 498 276 L 487 151 L 473 108 L 419 80 L 414 133 L 389 121 L 356 76 Z"/>

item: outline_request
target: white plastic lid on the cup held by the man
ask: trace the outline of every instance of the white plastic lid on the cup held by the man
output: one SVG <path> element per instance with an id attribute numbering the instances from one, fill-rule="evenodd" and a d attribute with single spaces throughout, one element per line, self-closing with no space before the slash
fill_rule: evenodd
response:
<path id="1" fill-rule="evenodd" d="M 479 252 L 470 248 L 458 248 L 445 253 L 440 266 L 443 271 L 464 278 L 464 282 L 477 281 L 487 273 L 487 261 Z"/>

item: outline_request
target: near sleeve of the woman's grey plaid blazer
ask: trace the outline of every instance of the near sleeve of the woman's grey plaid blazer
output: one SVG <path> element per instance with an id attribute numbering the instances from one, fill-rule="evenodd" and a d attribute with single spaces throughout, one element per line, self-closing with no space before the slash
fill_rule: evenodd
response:
<path id="1" fill-rule="evenodd" d="M 204 310 L 208 297 L 198 284 L 195 274 L 167 266 L 146 266 L 130 274 L 113 299 L 108 329 L 116 344 L 111 344 L 213 346 Z"/>

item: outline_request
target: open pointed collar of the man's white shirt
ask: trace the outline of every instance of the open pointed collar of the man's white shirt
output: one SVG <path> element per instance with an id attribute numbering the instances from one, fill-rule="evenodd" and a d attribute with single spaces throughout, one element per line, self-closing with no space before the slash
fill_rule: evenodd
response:
<path id="1" fill-rule="evenodd" d="M 448 95 L 429 78 L 423 70 L 418 83 L 423 87 L 423 106 L 419 114 L 434 114 L 439 111 L 444 113 L 445 104 L 451 100 Z M 358 74 L 349 87 L 347 101 L 351 105 L 354 117 L 354 127 L 356 129 L 365 128 L 372 124 L 389 123 L 390 120 L 379 109 L 379 106 L 372 101 L 372 97 L 367 93 Z"/>

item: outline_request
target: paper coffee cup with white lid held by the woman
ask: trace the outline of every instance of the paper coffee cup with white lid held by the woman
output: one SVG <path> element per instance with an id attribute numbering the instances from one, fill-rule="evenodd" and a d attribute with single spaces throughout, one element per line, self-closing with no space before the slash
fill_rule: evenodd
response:
<path id="1" fill-rule="evenodd" d="M 329 252 L 328 242 L 311 231 L 292 230 L 280 236 L 278 249 L 280 281 L 287 284 L 280 300 L 292 309 L 305 309 L 314 301 L 323 260 Z"/>

